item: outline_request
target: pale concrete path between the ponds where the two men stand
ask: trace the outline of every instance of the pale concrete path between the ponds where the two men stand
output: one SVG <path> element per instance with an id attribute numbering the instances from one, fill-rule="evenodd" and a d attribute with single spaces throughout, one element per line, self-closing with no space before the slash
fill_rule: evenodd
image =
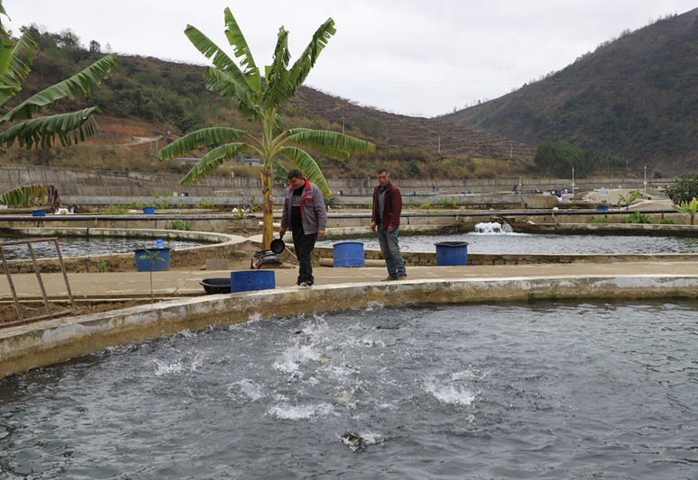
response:
<path id="1" fill-rule="evenodd" d="M 623 276 L 698 276 L 698 262 L 647 262 L 613 264 L 546 264 L 487 267 L 408 267 L 408 280 L 497 279 L 497 278 L 583 278 Z M 277 288 L 296 285 L 298 268 L 275 269 Z M 363 284 L 387 276 L 384 267 L 314 269 L 316 285 Z M 66 299 L 62 274 L 44 274 L 43 285 L 51 300 Z M 170 270 L 153 272 L 152 289 L 157 297 L 188 297 L 205 294 L 199 281 L 229 278 L 230 271 Z M 145 272 L 69 273 L 69 285 L 76 300 L 150 297 L 150 274 Z M 41 289 L 33 274 L 12 276 L 20 299 L 41 299 Z M 0 276 L 0 301 L 12 301 L 6 276 Z"/>

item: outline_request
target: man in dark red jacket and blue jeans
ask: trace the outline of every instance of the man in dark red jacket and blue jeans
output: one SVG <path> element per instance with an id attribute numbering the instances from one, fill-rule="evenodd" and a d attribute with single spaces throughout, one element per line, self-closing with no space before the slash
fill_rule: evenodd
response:
<path id="1" fill-rule="evenodd" d="M 378 233 L 381 254 L 385 259 L 385 266 L 388 267 L 388 278 L 385 281 L 404 280 L 407 278 L 407 271 L 398 244 L 402 195 L 400 189 L 390 182 L 387 169 L 379 168 L 377 173 L 378 186 L 373 189 L 371 231 Z"/>

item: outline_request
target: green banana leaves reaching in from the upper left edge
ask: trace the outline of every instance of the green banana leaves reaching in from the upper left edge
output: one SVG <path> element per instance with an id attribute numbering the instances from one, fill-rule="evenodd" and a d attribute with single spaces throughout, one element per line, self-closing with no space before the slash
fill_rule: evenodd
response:
<path id="1" fill-rule="evenodd" d="M 2 0 L 0 14 L 5 14 Z M 21 84 L 31 71 L 35 50 L 36 42 L 33 41 L 29 30 L 25 30 L 22 37 L 14 42 L 9 40 L 7 32 L 0 24 L 0 109 L 3 111 L 6 112 L 5 104 L 22 90 Z M 67 147 L 92 136 L 97 130 L 92 115 L 99 112 L 95 106 L 74 113 L 34 117 L 41 113 L 44 107 L 51 106 L 62 98 L 76 100 L 91 95 L 95 86 L 101 86 L 102 80 L 115 67 L 116 55 L 107 55 L 78 74 L 16 105 L 0 117 L 0 128 L 3 128 L 5 123 L 17 122 L 0 133 L 0 146 L 11 147 L 16 143 L 21 148 L 48 149 L 58 137 L 61 145 Z"/>

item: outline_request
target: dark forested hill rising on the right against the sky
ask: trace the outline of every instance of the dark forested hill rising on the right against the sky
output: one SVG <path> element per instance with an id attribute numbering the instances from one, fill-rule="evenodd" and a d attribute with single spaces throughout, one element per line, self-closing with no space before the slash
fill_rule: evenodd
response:
<path id="1" fill-rule="evenodd" d="M 636 172 L 695 173 L 698 9 L 623 32 L 559 72 L 441 120 L 623 157 Z"/>

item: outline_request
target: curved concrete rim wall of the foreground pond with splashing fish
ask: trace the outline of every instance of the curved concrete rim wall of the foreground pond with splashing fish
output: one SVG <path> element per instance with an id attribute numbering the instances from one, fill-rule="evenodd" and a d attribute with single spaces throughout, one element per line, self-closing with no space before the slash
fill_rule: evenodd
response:
<path id="1" fill-rule="evenodd" d="M 698 276 L 657 275 L 411 280 L 214 294 L 0 329 L 0 378 L 182 331 L 287 315 L 418 303 L 695 298 L 697 293 Z"/>

